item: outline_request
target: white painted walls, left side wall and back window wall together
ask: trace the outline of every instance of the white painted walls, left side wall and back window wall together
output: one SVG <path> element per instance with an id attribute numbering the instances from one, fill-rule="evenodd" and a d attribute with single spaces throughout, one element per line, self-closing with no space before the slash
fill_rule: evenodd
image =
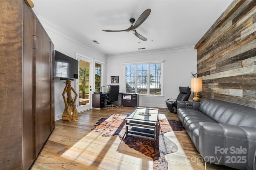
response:
<path id="1" fill-rule="evenodd" d="M 70 57 L 75 57 L 78 52 L 87 57 L 97 59 L 105 63 L 104 84 L 110 84 L 110 76 L 119 76 L 120 92 L 125 90 L 124 63 L 147 62 L 164 60 L 164 96 L 152 97 L 140 95 L 140 106 L 145 107 L 166 107 L 165 101 L 169 98 L 176 98 L 179 93 L 179 86 L 190 86 L 191 72 L 196 73 L 196 50 L 194 47 L 180 47 L 148 52 L 128 53 L 120 55 L 109 55 L 97 51 L 79 39 L 68 34 L 64 30 L 48 23 L 38 17 L 48 36 L 54 43 L 54 48 Z M 62 118 L 65 108 L 62 92 L 65 87 L 63 80 L 54 79 L 55 83 L 55 120 Z M 72 82 L 74 87 L 74 82 Z"/>

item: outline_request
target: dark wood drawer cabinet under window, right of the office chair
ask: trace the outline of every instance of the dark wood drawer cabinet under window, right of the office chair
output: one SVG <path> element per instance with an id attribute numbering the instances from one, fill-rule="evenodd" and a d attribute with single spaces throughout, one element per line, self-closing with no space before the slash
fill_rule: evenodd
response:
<path id="1" fill-rule="evenodd" d="M 138 107 L 140 103 L 139 93 L 122 93 L 122 105 Z"/>

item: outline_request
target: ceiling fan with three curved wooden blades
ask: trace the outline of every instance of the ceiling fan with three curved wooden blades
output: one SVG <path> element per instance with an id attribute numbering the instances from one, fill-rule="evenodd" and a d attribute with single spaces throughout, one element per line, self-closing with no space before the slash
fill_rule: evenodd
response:
<path id="1" fill-rule="evenodd" d="M 102 30 L 102 31 L 106 31 L 106 32 L 122 32 L 122 31 L 126 31 L 129 33 L 134 34 L 136 37 L 138 37 L 140 40 L 142 41 L 147 41 L 148 39 L 146 39 L 145 37 L 143 37 L 142 35 L 140 35 L 138 32 L 136 32 L 136 28 L 138 28 L 138 26 L 140 26 L 149 16 L 151 10 L 147 9 L 145 10 L 140 17 L 138 18 L 138 20 L 135 22 L 134 26 L 130 26 L 129 28 L 127 28 L 126 30 Z M 135 19 L 131 18 L 130 19 L 130 23 L 134 23 Z"/>

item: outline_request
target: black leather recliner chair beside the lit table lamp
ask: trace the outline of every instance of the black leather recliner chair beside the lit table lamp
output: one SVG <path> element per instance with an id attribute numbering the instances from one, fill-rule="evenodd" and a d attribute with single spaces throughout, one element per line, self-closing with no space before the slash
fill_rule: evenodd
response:
<path id="1" fill-rule="evenodd" d="M 189 87 L 180 87 L 180 94 L 177 99 L 167 99 L 166 105 L 170 112 L 177 113 L 177 101 L 188 101 L 191 91 Z"/>

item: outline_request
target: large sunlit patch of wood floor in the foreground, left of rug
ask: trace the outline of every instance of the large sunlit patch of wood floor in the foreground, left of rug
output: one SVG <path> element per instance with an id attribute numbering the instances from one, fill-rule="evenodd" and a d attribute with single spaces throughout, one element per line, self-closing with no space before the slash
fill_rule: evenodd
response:
<path id="1" fill-rule="evenodd" d="M 104 133 L 106 131 L 89 132 L 81 140 L 68 148 L 62 156 L 70 157 L 72 155 L 72 159 L 74 160 L 103 169 L 118 169 L 114 167 L 140 169 L 141 165 L 148 167 L 148 169 L 152 168 L 152 160 L 150 158 L 146 156 L 146 159 L 140 158 L 142 154 L 129 148 L 129 146 L 120 140 L 119 136 L 103 137 L 102 134 Z M 100 138 L 102 140 L 99 140 Z M 84 147 L 85 142 L 88 142 L 86 147 Z M 129 160 L 129 162 L 124 160 Z"/>

